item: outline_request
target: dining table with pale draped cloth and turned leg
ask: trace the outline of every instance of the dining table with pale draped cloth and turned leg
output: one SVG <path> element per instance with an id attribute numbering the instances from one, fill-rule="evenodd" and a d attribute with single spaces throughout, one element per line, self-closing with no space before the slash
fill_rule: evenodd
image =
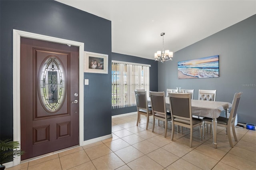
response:
<path id="1" fill-rule="evenodd" d="M 166 97 L 166 109 L 170 110 L 169 97 Z M 150 104 L 150 97 L 148 97 L 148 103 Z M 228 116 L 228 108 L 232 107 L 231 103 L 222 101 L 203 101 L 203 100 L 191 100 L 192 115 L 200 117 L 212 118 L 212 134 L 214 148 L 217 148 L 217 119 L 220 117 L 220 113 L 225 111 L 225 116 Z"/>

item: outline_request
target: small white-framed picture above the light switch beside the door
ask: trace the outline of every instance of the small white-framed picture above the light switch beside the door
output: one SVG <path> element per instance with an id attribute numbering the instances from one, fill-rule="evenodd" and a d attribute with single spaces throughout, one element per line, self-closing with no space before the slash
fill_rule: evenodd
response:
<path id="1" fill-rule="evenodd" d="M 108 74 L 108 55 L 84 51 L 84 72 Z"/>

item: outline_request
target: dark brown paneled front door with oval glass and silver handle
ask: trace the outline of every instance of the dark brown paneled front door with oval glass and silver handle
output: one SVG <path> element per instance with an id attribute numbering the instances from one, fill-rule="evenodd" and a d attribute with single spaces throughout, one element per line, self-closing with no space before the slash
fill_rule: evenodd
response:
<path id="1" fill-rule="evenodd" d="M 21 160 L 79 144 L 78 47 L 21 38 Z"/>

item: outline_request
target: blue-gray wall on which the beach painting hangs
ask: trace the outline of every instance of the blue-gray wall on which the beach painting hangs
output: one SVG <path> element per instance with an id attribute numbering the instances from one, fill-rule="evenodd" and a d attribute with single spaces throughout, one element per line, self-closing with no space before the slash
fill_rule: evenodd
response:
<path id="1" fill-rule="evenodd" d="M 178 79 L 178 61 L 219 55 L 220 77 Z M 217 89 L 216 101 L 232 103 L 242 91 L 238 123 L 256 124 L 256 15 L 174 53 L 173 61 L 158 64 L 158 90 L 182 87 Z"/>

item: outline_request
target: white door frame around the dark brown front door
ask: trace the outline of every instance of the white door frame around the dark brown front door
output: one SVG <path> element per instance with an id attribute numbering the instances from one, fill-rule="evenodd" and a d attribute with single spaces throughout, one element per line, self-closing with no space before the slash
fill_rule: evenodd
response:
<path id="1" fill-rule="evenodd" d="M 54 38 L 20 30 L 13 30 L 13 140 L 20 142 L 20 38 L 31 38 L 79 47 L 79 145 L 84 142 L 84 43 Z M 20 164 L 20 156 L 12 166 Z M 9 164 L 10 165 L 10 164 Z"/>

